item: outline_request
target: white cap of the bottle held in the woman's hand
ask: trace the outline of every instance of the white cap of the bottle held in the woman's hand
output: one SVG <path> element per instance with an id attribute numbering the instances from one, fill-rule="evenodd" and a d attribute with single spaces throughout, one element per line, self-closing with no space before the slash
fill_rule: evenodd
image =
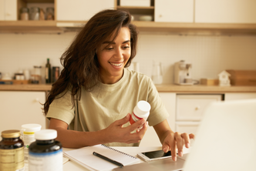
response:
<path id="1" fill-rule="evenodd" d="M 150 103 L 141 100 L 134 107 L 133 112 L 136 116 L 144 118 L 150 115 L 150 109 L 151 109 Z"/>

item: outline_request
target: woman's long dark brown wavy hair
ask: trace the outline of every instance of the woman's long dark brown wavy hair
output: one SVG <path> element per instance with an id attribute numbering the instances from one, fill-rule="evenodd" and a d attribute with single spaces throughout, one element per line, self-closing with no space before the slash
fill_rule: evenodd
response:
<path id="1" fill-rule="evenodd" d="M 52 89 L 43 104 L 45 115 L 49 111 L 52 101 L 61 98 L 69 90 L 73 106 L 75 96 L 81 98 L 82 88 L 86 91 L 93 90 L 93 87 L 100 81 L 96 49 L 112 35 L 113 40 L 116 39 L 122 27 L 130 29 L 131 55 L 125 67 L 130 65 L 136 55 L 138 34 L 136 26 L 131 24 L 130 13 L 125 10 L 113 9 L 97 13 L 89 19 L 66 52 L 62 54 L 60 61 L 64 69 L 62 69 L 59 79 L 52 84 Z"/>

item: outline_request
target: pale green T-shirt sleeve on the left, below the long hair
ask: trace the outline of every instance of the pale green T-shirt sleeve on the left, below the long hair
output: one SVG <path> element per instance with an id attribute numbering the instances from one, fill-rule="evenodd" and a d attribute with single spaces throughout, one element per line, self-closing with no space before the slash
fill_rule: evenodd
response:
<path id="1" fill-rule="evenodd" d="M 72 96 L 69 91 L 61 98 L 52 101 L 46 117 L 62 120 L 68 125 L 72 122 L 75 117 L 75 107 L 72 105 Z"/>

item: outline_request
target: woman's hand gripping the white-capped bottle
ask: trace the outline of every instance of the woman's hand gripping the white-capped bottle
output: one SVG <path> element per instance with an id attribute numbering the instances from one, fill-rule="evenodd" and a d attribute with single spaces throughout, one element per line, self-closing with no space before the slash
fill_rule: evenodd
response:
<path id="1" fill-rule="evenodd" d="M 130 113 L 128 113 L 123 119 L 116 120 L 110 124 L 104 131 L 106 131 L 106 139 L 108 142 L 124 142 L 124 143 L 136 143 L 140 142 L 144 134 L 147 131 L 148 122 L 144 119 L 133 123 L 130 126 L 123 127 L 126 122 L 130 121 Z M 142 126 L 140 131 L 138 128 Z M 134 131 L 136 130 L 136 131 Z"/>

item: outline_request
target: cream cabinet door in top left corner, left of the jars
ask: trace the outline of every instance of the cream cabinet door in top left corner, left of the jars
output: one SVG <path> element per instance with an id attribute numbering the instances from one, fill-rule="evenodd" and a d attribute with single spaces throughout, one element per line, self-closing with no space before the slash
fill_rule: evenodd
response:
<path id="1" fill-rule="evenodd" d="M 17 17 L 17 0 L 0 0 L 0 21 L 15 21 Z"/>

